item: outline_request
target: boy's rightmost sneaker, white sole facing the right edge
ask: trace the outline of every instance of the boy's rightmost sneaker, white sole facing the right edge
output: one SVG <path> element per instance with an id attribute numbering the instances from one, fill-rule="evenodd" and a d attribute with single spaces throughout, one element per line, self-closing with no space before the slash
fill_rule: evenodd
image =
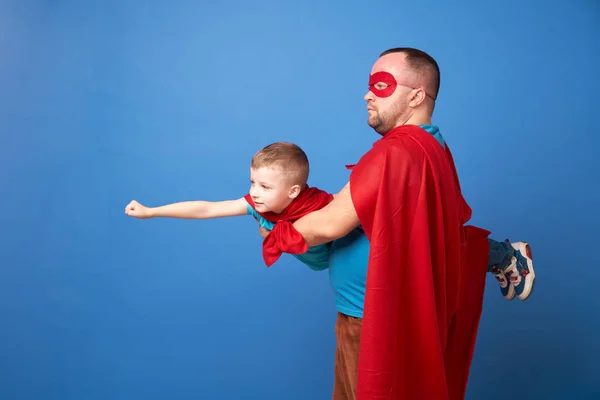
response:
<path id="1" fill-rule="evenodd" d="M 526 242 L 510 243 L 510 245 L 515 249 L 515 254 L 508 267 L 504 269 L 504 274 L 508 277 L 510 286 L 514 286 L 519 300 L 524 301 L 531 295 L 535 280 L 531 247 Z"/>

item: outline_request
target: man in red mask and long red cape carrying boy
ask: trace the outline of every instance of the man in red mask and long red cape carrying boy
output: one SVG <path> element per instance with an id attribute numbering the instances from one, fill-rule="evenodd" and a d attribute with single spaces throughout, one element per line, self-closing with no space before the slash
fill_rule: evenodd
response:
<path id="1" fill-rule="evenodd" d="M 334 399 L 464 398 L 489 232 L 464 226 L 471 209 L 431 124 L 439 82 L 428 54 L 382 53 L 365 100 L 383 137 L 328 206 L 286 223 L 307 246 L 333 241 L 332 284 L 349 310 L 364 301 L 362 318 L 338 314 Z M 353 260 L 368 263 L 364 299 Z"/>

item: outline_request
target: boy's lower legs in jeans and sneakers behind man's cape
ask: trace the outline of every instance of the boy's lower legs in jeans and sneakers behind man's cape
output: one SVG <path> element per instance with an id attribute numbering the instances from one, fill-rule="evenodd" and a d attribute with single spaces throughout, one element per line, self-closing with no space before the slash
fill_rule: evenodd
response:
<path id="1" fill-rule="evenodd" d="M 526 300 L 535 281 L 531 247 L 526 242 L 488 240 L 488 269 L 498 280 L 502 295 L 512 300 L 516 294 L 520 300 Z"/>

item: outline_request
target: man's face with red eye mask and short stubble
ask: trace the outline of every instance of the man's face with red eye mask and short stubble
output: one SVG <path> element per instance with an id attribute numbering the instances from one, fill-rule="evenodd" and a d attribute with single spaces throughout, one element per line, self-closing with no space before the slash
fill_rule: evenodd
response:
<path id="1" fill-rule="evenodd" d="M 403 84 L 413 77 L 404 57 L 401 53 L 388 54 L 377 60 L 371 69 L 369 91 L 364 97 L 369 113 L 367 123 L 381 135 L 403 125 L 412 113 L 409 95 L 413 89 Z"/>

